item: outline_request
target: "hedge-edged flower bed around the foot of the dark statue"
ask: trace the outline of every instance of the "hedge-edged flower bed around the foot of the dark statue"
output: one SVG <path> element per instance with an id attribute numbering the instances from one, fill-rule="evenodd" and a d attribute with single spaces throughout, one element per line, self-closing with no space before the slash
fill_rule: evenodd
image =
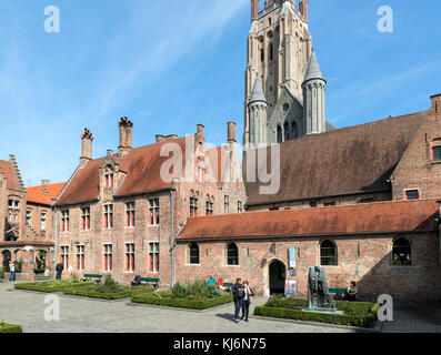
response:
<path id="1" fill-rule="evenodd" d="M 314 313 L 301 311 L 307 300 L 271 297 L 264 306 L 257 306 L 254 315 L 295 321 L 319 322 L 337 325 L 374 327 L 379 304 L 370 302 L 337 302 L 337 310 L 344 314 Z"/>

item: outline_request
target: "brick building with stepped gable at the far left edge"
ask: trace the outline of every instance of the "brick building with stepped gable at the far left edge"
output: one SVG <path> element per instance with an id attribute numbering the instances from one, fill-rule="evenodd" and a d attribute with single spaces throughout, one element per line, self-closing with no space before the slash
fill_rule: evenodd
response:
<path id="1" fill-rule="evenodd" d="M 0 161 L 0 241 L 1 266 L 9 261 L 21 263 L 18 280 L 33 280 L 33 270 L 53 270 L 51 200 L 63 184 L 24 187 L 16 158 Z"/>

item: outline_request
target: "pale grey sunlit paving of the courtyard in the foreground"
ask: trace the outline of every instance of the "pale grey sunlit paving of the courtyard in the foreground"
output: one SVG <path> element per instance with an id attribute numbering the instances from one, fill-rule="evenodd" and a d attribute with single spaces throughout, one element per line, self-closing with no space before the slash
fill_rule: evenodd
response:
<path id="1" fill-rule="evenodd" d="M 0 320 L 29 333 L 354 333 L 351 328 L 250 318 L 232 322 L 231 304 L 203 313 L 130 306 L 127 301 L 102 302 L 60 296 L 60 322 L 44 321 L 46 294 L 16 291 L 0 283 Z M 264 303 L 257 298 L 255 304 Z"/>

